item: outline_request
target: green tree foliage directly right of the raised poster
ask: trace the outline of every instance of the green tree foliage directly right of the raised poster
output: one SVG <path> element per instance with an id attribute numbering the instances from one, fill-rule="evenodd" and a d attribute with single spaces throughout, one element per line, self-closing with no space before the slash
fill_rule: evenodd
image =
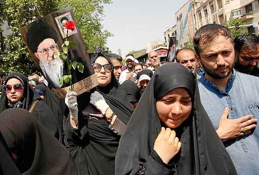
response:
<path id="1" fill-rule="evenodd" d="M 88 52 L 93 52 L 94 46 L 100 46 L 103 51 L 107 50 L 106 42 L 112 34 L 103 30 L 101 21 L 104 15 L 104 4 L 110 3 L 111 0 L 62 0 L 59 3 L 59 9 L 67 6 L 73 9 Z"/>

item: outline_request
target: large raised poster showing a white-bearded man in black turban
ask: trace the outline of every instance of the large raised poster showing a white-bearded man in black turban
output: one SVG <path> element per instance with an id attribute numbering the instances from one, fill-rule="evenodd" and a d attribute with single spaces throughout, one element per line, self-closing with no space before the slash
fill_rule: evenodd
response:
<path id="1" fill-rule="evenodd" d="M 72 28 L 62 25 L 62 22 L 72 23 Z M 66 26 L 67 30 L 61 26 Z M 98 85 L 70 7 L 44 16 L 20 31 L 30 56 L 59 98 L 65 98 L 69 91 L 80 95 Z M 73 43 L 73 47 L 69 44 L 64 50 L 68 41 Z M 76 69 L 71 68 L 72 63 L 77 63 Z"/>

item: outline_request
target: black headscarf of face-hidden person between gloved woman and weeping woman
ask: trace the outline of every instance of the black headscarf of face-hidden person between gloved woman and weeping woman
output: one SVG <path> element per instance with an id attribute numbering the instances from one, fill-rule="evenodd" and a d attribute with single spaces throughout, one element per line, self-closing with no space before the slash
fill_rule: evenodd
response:
<path id="1" fill-rule="evenodd" d="M 139 88 L 135 82 L 126 80 L 121 84 L 121 87 L 126 92 L 126 96 L 130 102 L 138 102 L 140 99 Z"/>

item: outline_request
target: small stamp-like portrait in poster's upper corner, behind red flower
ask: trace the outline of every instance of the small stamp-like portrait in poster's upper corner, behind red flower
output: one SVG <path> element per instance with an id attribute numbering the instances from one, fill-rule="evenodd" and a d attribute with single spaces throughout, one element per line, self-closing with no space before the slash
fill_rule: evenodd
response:
<path id="1" fill-rule="evenodd" d="M 77 33 L 77 28 L 75 28 L 72 31 L 71 29 L 67 29 L 66 27 L 64 27 L 64 25 L 66 25 L 66 23 L 68 23 L 69 21 L 74 22 L 70 12 L 64 13 L 60 16 L 55 17 L 55 20 L 56 20 L 59 32 L 60 32 L 60 34 L 62 35 L 63 38 L 66 38 L 68 36 L 71 36 L 71 35 Z"/>

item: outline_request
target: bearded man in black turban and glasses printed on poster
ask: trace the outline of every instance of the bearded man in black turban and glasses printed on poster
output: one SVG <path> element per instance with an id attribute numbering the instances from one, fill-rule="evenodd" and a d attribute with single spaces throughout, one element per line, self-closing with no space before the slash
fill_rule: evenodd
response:
<path id="1" fill-rule="evenodd" d="M 54 88 L 60 88 L 59 79 L 63 75 L 63 61 L 59 59 L 59 53 L 53 56 L 58 51 L 55 30 L 49 24 L 41 21 L 29 28 L 26 40 L 29 49 L 39 59 L 44 76 Z"/>

